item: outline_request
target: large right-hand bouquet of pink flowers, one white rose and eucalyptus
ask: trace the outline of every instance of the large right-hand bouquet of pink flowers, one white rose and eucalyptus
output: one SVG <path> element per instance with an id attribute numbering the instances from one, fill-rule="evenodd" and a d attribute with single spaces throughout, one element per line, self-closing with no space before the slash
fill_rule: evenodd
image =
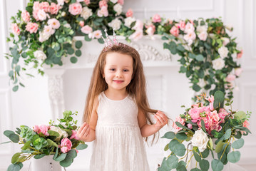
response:
<path id="1" fill-rule="evenodd" d="M 176 133 L 170 131 L 163 136 L 171 139 L 164 149 L 171 153 L 164 157 L 158 170 L 187 170 L 190 161 L 195 159 L 195 166 L 191 166 L 195 167 L 192 168 L 193 171 L 209 170 L 210 165 L 214 171 L 220 171 L 227 162 L 235 163 L 240 160 L 237 149 L 244 145 L 242 135 L 250 133 L 247 127 L 251 113 L 232 111 L 230 100 L 225 103 L 230 106 L 226 110 L 224 93 L 221 91 L 208 98 L 202 94 L 198 100 L 199 103 L 192 105 L 176 118 Z M 188 147 L 184 144 L 188 144 Z M 208 156 L 212 157 L 211 161 L 206 160 Z"/>

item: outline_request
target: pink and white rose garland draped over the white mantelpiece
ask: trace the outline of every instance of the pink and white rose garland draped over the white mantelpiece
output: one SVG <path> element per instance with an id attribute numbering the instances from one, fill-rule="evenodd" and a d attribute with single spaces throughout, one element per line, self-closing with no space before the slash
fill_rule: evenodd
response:
<path id="1" fill-rule="evenodd" d="M 11 17 L 13 33 L 7 41 L 14 46 L 6 58 L 11 60 L 13 90 L 24 86 L 20 73 L 26 73 L 29 64 L 43 75 L 40 66 L 62 66 L 63 56 L 72 56 L 71 63 L 76 63 L 83 43 L 74 41 L 74 36 L 103 43 L 103 30 L 107 28 L 111 34 L 115 28 L 117 35 L 125 36 L 128 42 L 143 35 L 162 35 L 163 48 L 180 56 L 180 73 L 190 79 L 195 92 L 211 95 L 222 90 L 232 98 L 235 78 L 242 72 L 237 61 L 242 50 L 227 33 L 232 28 L 220 19 L 172 21 L 158 14 L 143 23 L 133 17 L 131 9 L 124 14 L 123 4 L 123 0 L 31 0 L 26 11 Z"/>

